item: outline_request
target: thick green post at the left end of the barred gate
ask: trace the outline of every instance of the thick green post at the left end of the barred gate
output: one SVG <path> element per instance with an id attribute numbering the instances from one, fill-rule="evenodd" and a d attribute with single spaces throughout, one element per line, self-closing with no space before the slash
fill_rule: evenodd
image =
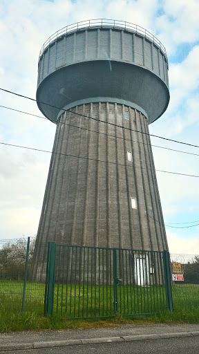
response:
<path id="1" fill-rule="evenodd" d="M 48 243 L 48 257 L 46 266 L 46 288 L 44 299 L 45 315 L 53 315 L 54 288 L 55 288 L 55 242 Z"/>

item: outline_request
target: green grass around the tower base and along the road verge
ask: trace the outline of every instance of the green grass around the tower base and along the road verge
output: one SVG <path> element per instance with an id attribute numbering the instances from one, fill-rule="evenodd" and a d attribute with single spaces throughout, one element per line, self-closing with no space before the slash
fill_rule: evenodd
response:
<path id="1" fill-rule="evenodd" d="M 42 330 L 64 328 L 99 328 L 120 326 L 124 323 L 157 324 L 157 323 L 199 323 L 199 284 L 180 284 L 173 286 L 172 313 L 165 310 L 165 293 L 162 286 L 150 288 L 126 286 L 118 287 L 118 312 L 113 315 L 113 286 L 55 286 L 54 315 L 44 317 L 44 283 L 26 285 L 25 312 L 21 314 L 23 281 L 0 281 L 0 332 L 11 330 Z M 103 297 L 104 290 L 104 297 Z M 92 304 L 91 304 L 92 293 Z M 58 295 L 57 295 L 58 294 Z M 83 296 L 84 295 L 84 296 Z M 132 295 L 132 297 L 130 297 Z M 160 295 L 162 307 L 160 304 Z M 163 301 L 164 297 L 164 301 Z M 132 301 L 131 301 L 132 298 Z M 128 301 L 127 301 L 128 299 Z M 145 300 L 145 301 L 144 301 Z M 145 303 L 145 308 L 144 308 Z M 62 304 L 62 305 L 61 305 Z M 67 310 L 66 310 L 67 304 Z M 66 317 L 108 316 L 91 319 L 67 319 Z M 92 310 L 92 312 L 91 312 Z M 139 312 L 158 312 L 156 315 L 139 315 Z M 155 310 L 155 311 L 154 311 Z M 128 316 L 128 313 L 136 316 Z"/>

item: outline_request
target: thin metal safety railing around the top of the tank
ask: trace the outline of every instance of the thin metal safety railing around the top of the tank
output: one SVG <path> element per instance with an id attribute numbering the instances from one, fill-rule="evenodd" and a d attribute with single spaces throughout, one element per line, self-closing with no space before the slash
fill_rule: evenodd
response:
<path id="1" fill-rule="evenodd" d="M 154 35 L 152 35 L 149 30 L 146 30 L 145 28 L 142 28 L 141 26 L 138 26 L 136 24 L 131 24 L 130 22 L 126 21 L 118 21 L 115 19 L 89 19 L 86 21 L 81 21 L 81 22 L 76 22 L 75 24 L 68 25 L 66 27 L 61 28 L 60 30 L 57 30 L 57 32 L 53 33 L 47 41 L 43 44 L 40 53 L 39 53 L 39 59 L 41 55 L 44 53 L 44 50 L 53 43 L 53 41 L 56 41 L 57 38 L 64 36 L 68 33 L 75 32 L 77 30 L 82 30 L 82 29 L 88 29 L 91 27 L 108 27 L 108 28 L 120 28 L 123 30 L 129 30 L 133 33 L 138 33 L 139 35 L 142 35 L 142 37 L 149 39 L 152 43 L 154 43 L 160 50 L 162 50 L 162 53 L 167 57 L 167 51 L 163 44 L 159 41 L 158 38 L 156 38 Z"/>

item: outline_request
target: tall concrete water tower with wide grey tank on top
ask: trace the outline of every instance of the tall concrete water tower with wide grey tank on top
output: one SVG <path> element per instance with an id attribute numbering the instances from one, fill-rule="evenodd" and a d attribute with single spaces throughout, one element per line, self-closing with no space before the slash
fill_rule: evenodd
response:
<path id="1" fill-rule="evenodd" d="M 57 131 L 35 269 L 47 241 L 167 250 L 147 133 L 168 103 L 166 50 L 140 26 L 83 21 L 46 41 L 37 104 Z"/>

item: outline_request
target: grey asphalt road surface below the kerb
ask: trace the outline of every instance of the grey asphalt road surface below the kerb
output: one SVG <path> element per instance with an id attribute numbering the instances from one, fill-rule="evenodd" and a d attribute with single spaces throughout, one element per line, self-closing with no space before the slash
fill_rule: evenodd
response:
<path id="1" fill-rule="evenodd" d="M 3 351 L 1 354 L 198 354 L 198 337 L 152 339 L 139 342 L 88 344 L 59 348 L 41 348 L 25 351 Z"/>

